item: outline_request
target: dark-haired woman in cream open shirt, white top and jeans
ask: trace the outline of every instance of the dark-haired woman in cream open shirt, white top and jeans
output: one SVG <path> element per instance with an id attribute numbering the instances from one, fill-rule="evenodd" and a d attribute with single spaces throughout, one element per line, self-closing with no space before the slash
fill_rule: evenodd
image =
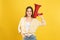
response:
<path id="1" fill-rule="evenodd" d="M 38 26 L 46 25 L 43 15 L 39 15 L 41 22 L 33 17 L 33 8 L 26 8 L 25 16 L 21 18 L 18 25 L 18 32 L 21 33 L 23 40 L 36 40 L 35 31 Z"/>

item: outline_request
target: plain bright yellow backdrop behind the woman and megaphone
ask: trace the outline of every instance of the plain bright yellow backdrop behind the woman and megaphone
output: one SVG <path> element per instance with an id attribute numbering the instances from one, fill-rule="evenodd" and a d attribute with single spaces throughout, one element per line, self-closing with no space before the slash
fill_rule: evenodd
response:
<path id="1" fill-rule="evenodd" d="M 60 40 L 60 0 L 0 0 L 0 40 L 22 40 L 19 20 L 27 6 L 40 4 L 47 25 L 36 31 L 37 40 Z"/>

